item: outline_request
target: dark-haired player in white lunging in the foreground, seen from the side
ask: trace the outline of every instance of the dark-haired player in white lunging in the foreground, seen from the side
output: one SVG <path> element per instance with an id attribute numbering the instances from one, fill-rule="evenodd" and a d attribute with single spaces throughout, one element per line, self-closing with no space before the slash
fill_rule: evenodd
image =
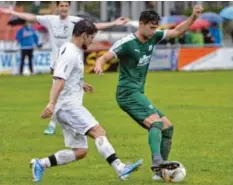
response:
<path id="1" fill-rule="evenodd" d="M 71 149 L 60 150 L 42 159 L 32 159 L 32 173 L 36 182 L 41 181 L 46 168 L 84 158 L 88 150 L 87 136 L 95 140 L 98 152 L 114 168 L 120 179 L 127 178 L 142 165 L 142 160 L 127 165 L 122 163 L 109 143 L 105 130 L 82 105 L 83 50 L 91 44 L 96 32 L 96 26 L 92 22 L 79 21 L 75 24 L 71 42 L 64 44 L 59 51 L 53 74 L 55 82 L 50 91 L 49 103 L 41 117 L 54 117 L 62 127 L 65 146 Z M 89 88 L 92 90 L 91 86 Z"/>

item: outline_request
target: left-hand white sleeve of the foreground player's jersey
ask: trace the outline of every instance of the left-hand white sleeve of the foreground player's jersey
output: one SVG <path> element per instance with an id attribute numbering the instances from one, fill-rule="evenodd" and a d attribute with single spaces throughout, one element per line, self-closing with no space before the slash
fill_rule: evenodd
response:
<path id="1" fill-rule="evenodd" d="M 74 68 L 75 57 L 66 51 L 66 47 L 61 49 L 61 53 L 56 61 L 53 77 L 67 80 Z"/>

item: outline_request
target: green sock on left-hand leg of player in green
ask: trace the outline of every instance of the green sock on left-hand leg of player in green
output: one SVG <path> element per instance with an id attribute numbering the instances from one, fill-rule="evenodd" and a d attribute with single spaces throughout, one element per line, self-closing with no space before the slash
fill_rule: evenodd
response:
<path id="1" fill-rule="evenodd" d="M 160 154 L 160 144 L 161 144 L 161 129 L 163 127 L 163 122 L 155 122 L 151 124 L 151 128 L 149 130 L 149 138 L 148 142 L 151 149 L 152 160 L 153 156 L 161 156 Z"/>

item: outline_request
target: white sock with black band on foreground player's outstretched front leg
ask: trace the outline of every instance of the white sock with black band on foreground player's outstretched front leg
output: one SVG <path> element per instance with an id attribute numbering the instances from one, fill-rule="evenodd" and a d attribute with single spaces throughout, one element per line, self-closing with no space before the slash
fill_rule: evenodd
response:
<path id="1" fill-rule="evenodd" d="M 104 157 L 104 159 L 108 159 L 108 157 L 116 154 L 114 148 L 109 143 L 108 139 L 105 136 L 100 136 L 95 139 L 95 144 L 100 155 Z M 119 174 L 125 167 L 125 164 L 121 162 L 120 159 L 116 159 L 111 163 L 111 166 L 114 168 L 117 174 Z"/>

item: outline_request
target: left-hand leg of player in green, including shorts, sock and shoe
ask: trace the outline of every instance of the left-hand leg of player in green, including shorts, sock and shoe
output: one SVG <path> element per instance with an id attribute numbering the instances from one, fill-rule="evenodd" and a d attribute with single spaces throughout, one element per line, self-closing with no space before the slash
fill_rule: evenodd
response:
<path id="1" fill-rule="evenodd" d="M 158 110 L 142 93 L 133 93 L 126 99 L 118 98 L 118 104 L 141 126 L 148 129 L 148 142 L 152 156 L 152 170 L 159 170 L 161 167 L 169 167 L 169 163 L 162 165 L 164 160 L 161 155 L 163 121 Z"/>

